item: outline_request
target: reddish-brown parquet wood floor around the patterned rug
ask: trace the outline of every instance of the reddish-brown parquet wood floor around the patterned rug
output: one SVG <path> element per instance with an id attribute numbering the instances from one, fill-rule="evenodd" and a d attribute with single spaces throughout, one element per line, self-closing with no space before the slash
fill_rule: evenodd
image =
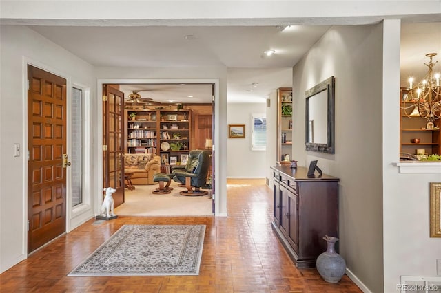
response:
<path id="1" fill-rule="evenodd" d="M 362 292 L 346 275 L 323 281 L 298 269 L 271 230 L 272 191 L 263 180 L 228 180 L 229 217 L 94 219 L 0 274 L 0 292 Z M 207 225 L 198 276 L 67 276 L 123 224 Z"/>

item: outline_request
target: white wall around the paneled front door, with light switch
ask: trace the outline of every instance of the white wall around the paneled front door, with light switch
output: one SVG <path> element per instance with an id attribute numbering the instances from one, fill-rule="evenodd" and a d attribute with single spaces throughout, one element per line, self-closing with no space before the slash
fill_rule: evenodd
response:
<path id="1" fill-rule="evenodd" d="M 25 27 L 1 25 L 0 44 L 0 272 L 3 272 L 27 255 L 26 63 L 67 78 L 68 88 L 72 82 L 92 85 L 92 66 Z M 13 156 L 14 143 L 21 145 L 20 157 Z"/>

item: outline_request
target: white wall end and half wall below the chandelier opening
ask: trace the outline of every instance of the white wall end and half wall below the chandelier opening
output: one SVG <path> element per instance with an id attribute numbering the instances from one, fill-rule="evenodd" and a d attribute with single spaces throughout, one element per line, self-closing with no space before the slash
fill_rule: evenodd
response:
<path id="1" fill-rule="evenodd" d="M 397 32 L 400 32 L 400 21 L 385 21 L 382 113 L 384 292 L 396 292 L 402 275 L 436 276 L 436 259 L 441 259 L 441 239 L 429 237 L 429 182 L 441 182 L 441 164 L 428 163 L 427 167 L 435 166 L 438 173 L 398 173 L 395 166 L 400 151 L 400 113 L 390 109 L 398 107 L 400 96 L 400 76 L 396 69 L 400 62 L 400 37 Z"/>

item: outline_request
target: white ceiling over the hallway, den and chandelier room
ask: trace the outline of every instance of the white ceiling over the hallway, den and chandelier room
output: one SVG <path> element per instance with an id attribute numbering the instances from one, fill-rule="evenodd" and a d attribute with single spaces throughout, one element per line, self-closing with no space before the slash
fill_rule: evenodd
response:
<path id="1" fill-rule="evenodd" d="M 228 102 L 265 102 L 278 87 L 291 86 L 292 67 L 329 26 L 293 25 L 284 31 L 276 26 L 30 28 L 97 67 L 225 66 Z M 409 75 L 418 79 L 427 72 L 425 54 L 437 52 L 435 60 L 441 60 L 441 23 L 403 23 L 401 42 L 403 84 Z M 266 57 L 265 50 L 275 53 Z M 122 87 L 126 94 L 136 89 L 147 89 L 140 93 L 143 97 L 162 102 L 211 102 L 212 96 L 206 85 Z M 189 95 L 194 99 L 190 101 Z"/>

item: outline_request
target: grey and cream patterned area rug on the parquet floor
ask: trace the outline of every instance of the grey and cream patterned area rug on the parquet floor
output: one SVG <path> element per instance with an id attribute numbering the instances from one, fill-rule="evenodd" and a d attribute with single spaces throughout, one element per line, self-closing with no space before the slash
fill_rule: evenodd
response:
<path id="1" fill-rule="evenodd" d="M 68 276 L 198 275 L 205 225 L 124 225 Z"/>

